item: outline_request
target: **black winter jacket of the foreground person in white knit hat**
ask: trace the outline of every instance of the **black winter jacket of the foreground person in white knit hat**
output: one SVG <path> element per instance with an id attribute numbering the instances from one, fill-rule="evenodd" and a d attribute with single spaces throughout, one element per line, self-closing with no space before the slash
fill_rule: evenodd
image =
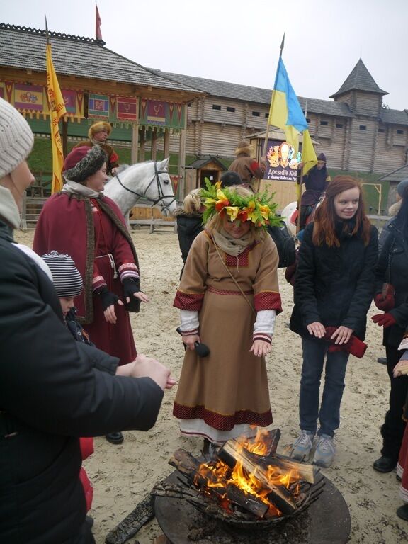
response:
<path id="1" fill-rule="evenodd" d="M 74 544 L 85 519 L 78 437 L 150 429 L 163 392 L 94 368 L 117 360 L 73 341 L 52 283 L 11 242 L 0 222 L 0 542 Z"/>

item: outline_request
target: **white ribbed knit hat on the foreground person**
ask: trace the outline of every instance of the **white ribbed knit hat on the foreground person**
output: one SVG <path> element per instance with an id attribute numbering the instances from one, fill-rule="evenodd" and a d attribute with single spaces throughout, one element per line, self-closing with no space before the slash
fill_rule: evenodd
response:
<path id="1" fill-rule="evenodd" d="M 27 159 L 33 143 L 33 132 L 26 119 L 0 98 L 0 179 Z"/>

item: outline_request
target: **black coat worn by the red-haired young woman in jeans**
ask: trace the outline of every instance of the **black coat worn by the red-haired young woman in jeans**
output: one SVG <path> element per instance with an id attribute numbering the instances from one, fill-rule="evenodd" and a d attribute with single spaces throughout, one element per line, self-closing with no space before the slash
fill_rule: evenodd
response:
<path id="1" fill-rule="evenodd" d="M 310 223 L 300 245 L 290 329 L 312 338 L 306 327 L 313 322 L 321 322 L 324 327 L 343 325 L 363 340 L 366 314 L 374 293 L 377 229 L 371 227 L 366 247 L 358 234 L 340 232 L 340 247 L 314 246 L 312 234 L 313 223 Z"/>

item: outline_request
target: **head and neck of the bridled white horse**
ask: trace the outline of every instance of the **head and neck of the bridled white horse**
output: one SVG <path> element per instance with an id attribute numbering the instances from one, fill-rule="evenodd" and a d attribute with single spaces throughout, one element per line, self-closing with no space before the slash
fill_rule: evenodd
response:
<path id="1" fill-rule="evenodd" d="M 103 194 L 118 204 L 124 217 L 128 217 L 140 198 L 148 200 L 152 206 L 157 205 L 163 215 L 171 215 L 176 211 L 177 203 L 168 166 L 169 159 L 120 166 L 106 183 Z"/>

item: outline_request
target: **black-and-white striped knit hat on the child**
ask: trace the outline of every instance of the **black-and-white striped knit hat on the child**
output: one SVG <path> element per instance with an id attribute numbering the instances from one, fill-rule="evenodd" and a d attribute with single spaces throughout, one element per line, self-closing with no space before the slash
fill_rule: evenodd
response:
<path id="1" fill-rule="evenodd" d="M 60 298 L 77 297 L 81 294 L 84 287 L 82 276 L 69 255 L 51 251 L 42 255 L 42 259 L 50 267 L 52 283 Z"/>

